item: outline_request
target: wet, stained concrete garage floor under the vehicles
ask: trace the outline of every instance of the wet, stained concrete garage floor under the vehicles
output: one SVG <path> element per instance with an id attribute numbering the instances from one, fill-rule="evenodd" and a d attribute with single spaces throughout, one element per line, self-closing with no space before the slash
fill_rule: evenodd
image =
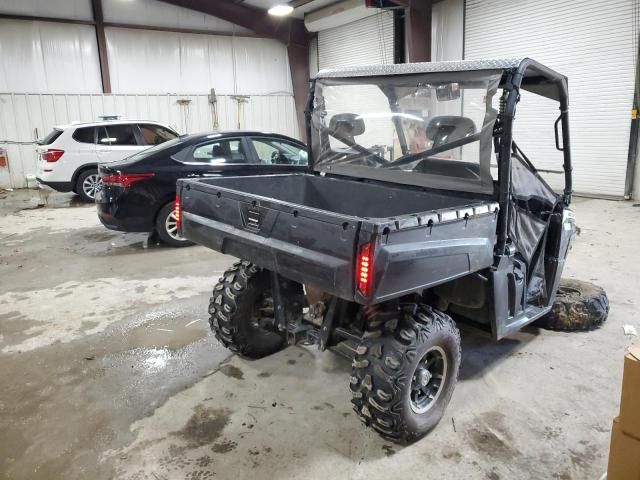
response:
<path id="1" fill-rule="evenodd" d="M 230 356 L 207 325 L 231 262 L 104 229 L 92 206 L 0 193 L 0 477 L 598 479 L 625 348 L 640 331 L 640 208 L 579 199 L 566 276 L 604 286 L 606 325 L 463 331 L 440 425 L 393 445 L 349 403 L 349 362 L 290 347 Z"/>

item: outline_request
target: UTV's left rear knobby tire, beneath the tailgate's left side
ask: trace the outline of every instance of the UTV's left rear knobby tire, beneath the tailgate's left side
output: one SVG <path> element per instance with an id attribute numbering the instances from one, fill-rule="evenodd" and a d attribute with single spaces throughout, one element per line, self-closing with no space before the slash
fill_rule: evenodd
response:
<path id="1" fill-rule="evenodd" d="M 237 262 L 224 272 L 209 303 L 209 323 L 220 343 L 248 358 L 262 358 L 286 347 L 286 334 L 275 322 L 271 290 L 271 272 L 250 262 Z M 302 293 L 302 286 L 286 282 L 281 295 L 292 293 Z"/>

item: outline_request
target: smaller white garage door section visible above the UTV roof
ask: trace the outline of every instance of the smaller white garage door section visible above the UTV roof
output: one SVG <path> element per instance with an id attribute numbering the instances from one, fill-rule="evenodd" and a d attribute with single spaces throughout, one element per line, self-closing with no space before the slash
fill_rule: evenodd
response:
<path id="1" fill-rule="evenodd" d="M 318 32 L 320 69 L 375 63 L 393 63 L 392 12 Z"/>

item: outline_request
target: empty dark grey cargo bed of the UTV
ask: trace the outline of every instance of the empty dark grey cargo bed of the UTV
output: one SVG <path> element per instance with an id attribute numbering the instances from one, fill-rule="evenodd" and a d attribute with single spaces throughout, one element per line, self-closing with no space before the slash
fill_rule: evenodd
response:
<path id="1" fill-rule="evenodd" d="M 498 204 L 317 174 L 183 179 L 182 232 L 346 300 L 373 304 L 491 266 Z M 362 245 L 371 290 L 356 288 Z"/>

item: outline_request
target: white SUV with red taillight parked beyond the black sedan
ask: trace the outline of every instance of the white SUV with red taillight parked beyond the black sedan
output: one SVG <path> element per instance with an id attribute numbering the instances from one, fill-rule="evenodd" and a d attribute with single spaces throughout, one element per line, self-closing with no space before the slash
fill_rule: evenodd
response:
<path id="1" fill-rule="evenodd" d="M 115 162 L 177 137 L 171 128 L 145 120 L 108 120 L 55 127 L 36 151 L 36 179 L 59 192 L 93 201 L 102 187 L 98 163 Z"/>

